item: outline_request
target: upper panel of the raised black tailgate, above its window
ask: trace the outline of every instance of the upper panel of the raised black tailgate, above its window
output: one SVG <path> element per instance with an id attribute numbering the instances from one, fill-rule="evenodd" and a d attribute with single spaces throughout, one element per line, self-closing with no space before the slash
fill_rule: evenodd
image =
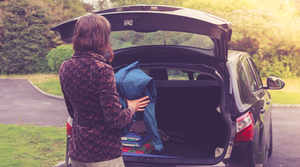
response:
<path id="1" fill-rule="evenodd" d="M 149 8 L 151 6 L 138 6 L 140 9 L 138 11 L 117 11 L 118 8 L 113 8 L 95 12 L 95 14 L 100 14 L 110 21 L 112 25 L 111 31 L 134 30 L 136 32 L 155 32 L 158 30 L 168 30 L 209 36 L 215 45 L 213 54 L 215 61 L 221 62 L 226 60 L 226 42 L 230 41 L 232 32 L 232 23 L 229 21 L 187 8 L 178 8 L 178 10 L 175 11 L 141 11 L 145 10 L 146 7 Z M 166 6 L 157 7 L 173 8 Z M 80 17 L 67 20 L 52 27 L 50 30 L 55 33 L 58 32 L 63 41 L 71 42 L 73 28 L 79 18 Z M 125 20 L 132 20 L 132 25 L 125 25 Z"/>

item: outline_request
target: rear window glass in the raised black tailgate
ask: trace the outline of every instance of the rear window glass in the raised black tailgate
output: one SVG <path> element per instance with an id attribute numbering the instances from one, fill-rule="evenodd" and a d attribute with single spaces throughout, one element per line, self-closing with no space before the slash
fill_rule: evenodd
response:
<path id="1" fill-rule="evenodd" d="M 113 50 L 146 45 L 179 45 L 207 50 L 214 49 L 214 42 L 208 36 L 187 32 L 114 31 L 111 32 L 110 38 Z"/>

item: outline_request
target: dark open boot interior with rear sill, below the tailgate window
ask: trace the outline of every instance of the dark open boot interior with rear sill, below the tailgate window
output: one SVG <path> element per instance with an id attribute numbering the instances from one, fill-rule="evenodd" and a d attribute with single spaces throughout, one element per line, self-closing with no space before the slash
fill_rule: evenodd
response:
<path id="1" fill-rule="evenodd" d="M 131 61 L 139 61 L 140 68 L 153 77 L 157 93 L 155 118 L 164 148 L 149 154 L 123 152 L 124 161 L 182 165 L 219 162 L 225 155 L 222 153 L 229 141 L 229 130 L 220 112 L 223 85 L 217 69 L 211 62 L 192 66 L 178 62 L 180 56 L 193 57 L 189 50 L 166 46 L 161 48 L 161 53 L 151 53 L 155 47 L 145 47 L 144 51 L 149 49 L 147 54 L 139 53 L 138 47 L 118 50 L 112 63 L 117 72 Z M 177 53 L 172 51 L 176 48 Z M 164 53 L 167 50 L 168 53 Z M 165 59 L 172 61 L 156 61 Z M 219 150 L 220 153 L 216 153 Z"/>

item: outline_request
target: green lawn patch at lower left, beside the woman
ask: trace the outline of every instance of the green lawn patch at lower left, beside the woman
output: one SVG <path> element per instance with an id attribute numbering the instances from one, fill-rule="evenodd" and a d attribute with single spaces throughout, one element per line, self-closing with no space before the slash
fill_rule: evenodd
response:
<path id="1" fill-rule="evenodd" d="M 0 124 L 0 166 L 52 167 L 64 160 L 66 129 Z"/>

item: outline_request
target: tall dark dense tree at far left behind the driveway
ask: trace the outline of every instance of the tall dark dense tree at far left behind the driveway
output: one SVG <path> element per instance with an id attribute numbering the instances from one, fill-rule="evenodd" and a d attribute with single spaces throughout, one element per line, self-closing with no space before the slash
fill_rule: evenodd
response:
<path id="1" fill-rule="evenodd" d="M 45 29 L 49 18 L 42 10 L 44 4 L 28 0 L 4 3 L 1 71 L 11 74 L 46 70 Z"/>

